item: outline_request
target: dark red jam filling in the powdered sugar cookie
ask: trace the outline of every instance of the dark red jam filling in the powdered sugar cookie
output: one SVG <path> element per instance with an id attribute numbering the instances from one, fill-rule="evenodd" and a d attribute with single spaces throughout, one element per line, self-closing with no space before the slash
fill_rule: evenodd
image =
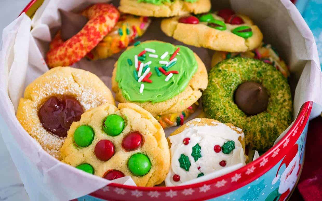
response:
<path id="1" fill-rule="evenodd" d="M 66 137 L 71 123 L 79 121 L 83 113 L 82 105 L 75 98 L 52 96 L 40 107 L 38 116 L 44 129 L 58 137 Z"/>

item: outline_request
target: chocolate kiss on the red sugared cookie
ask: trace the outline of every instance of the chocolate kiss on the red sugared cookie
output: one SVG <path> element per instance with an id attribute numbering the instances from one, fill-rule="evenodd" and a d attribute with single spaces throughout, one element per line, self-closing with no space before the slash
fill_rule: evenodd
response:
<path id="1" fill-rule="evenodd" d="M 67 41 L 81 31 L 88 19 L 81 14 L 67 12 L 62 9 L 58 10 L 62 19 L 62 40 Z"/>

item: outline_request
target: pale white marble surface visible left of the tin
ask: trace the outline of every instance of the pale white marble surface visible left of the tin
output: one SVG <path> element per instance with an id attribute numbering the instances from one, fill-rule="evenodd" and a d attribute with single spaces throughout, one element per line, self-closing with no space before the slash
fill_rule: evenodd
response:
<path id="1" fill-rule="evenodd" d="M 0 33 L 24 9 L 30 0 L 0 0 Z M 0 133 L 6 133 L 6 126 L 0 116 Z M 0 134 L 0 201 L 28 201 L 19 173 Z"/>

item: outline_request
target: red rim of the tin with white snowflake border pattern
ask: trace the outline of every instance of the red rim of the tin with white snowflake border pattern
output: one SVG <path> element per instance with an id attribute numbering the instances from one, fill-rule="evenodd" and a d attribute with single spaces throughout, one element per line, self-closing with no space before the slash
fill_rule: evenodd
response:
<path id="1" fill-rule="evenodd" d="M 36 3 L 38 0 L 32 0 L 31 2 L 29 2 L 29 4 L 24 8 L 24 10 L 21 12 L 21 14 L 23 12 L 27 12 L 34 3 Z M 196 187 L 201 187 L 205 184 L 214 184 L 215 182 L 222 180 L 222 179 L 229 179 L 231 178 L 234 174 L 236 173 L 241 173 L 241 172 L 245 172 L 247 169 L 260 164 L 260 162 L 264 159 L 264 158 L 268 158 L 272 155 L 272 153 L 274 153 L 274 151 L 277 151 L 279 148 L 282 148 L 283 144 L 287 141 L 290 140 L 290 136 L 293 134 L 293 136 L 298 133 L 301 134 L 306 126 L 306 122 L 308 121 L 308 118 L 310 116 L 311 113 L 311 109 L 312 109 L 312 105 L 313 102 L 312 101 L 308 101 L 306 103 L 304 103 L 302 105 L 302 109 L 300 110 L 295 122 L 293 123 L 293 125 L 291 126 L 291 128 L 289 129 L 289 131 L 285 134 L 285 136 L 272 148 L 270 148 L 270 150 L 266 151 L 263 155 L 260 156 L 260 158 L 256 159 L 255 161 L 252 161 L 251 163 L 246 164 L 245 166 L 243 166 L 240 169 L 237 169 L 231 173 L 225 174 L 221 177 L 218 178 L 213 178 L 211 180 L 207 180 L 207 181 L 203 181 L 203 182 L 199 182 L 199 183 L 195 183 L 195 184 L 190 184 L 190 185 L 185 185 L 185 186 L 176 186 L 176 187 L 135 187 L 135 186 L 128 186 L 128 185 L 122 185 L 122 184 L 116 184 L 116 183 L 111 183 L 109 184 L 109 186 L 112 187 L 121 187 L 124 189 L 128 189 L 128 190 L 141 190 L 141 191 L 168 191 L 168 190 L 183 190 L 186 188 L 196 188 Z M 296 131 L 296 132 L 294 132 Z M 295 139 L 295 140 L 294 140 Z M 289 143 L 295 143 L 296 142 L 296 137 L 292 138 L 292 141 Z M 283 149 L 282 152 L 288 152 L 291 149 L 290 146 L 288 146 L 286 149 Z M 249 183 L 251 183 L 252 181 L 254 181 L 255 179 L 259 178 L 260 176 L 262 176 L 263 174 L 265 174 L 268 170 L 270 170 L 273 166 L 275 166 L 279 160 L 281 160 L 284 157 L 283 154 L 279 154 L 278 157 L 274 158 L 274 162 L 269 162 L 268 165 L 265 165 L 263 168 L 260 169 L 260 171 L 257 174 L 253 174 L 253 176 L 250 176 L 247 181 L 243 181 L 243 182 L 236 182 L 236 184 L 232 185 L 232 187 L 225 189 L 225 190 L 218 190 L 216 193 L 209 195 L 209 196 L 205 196 L 202 199 L 200 198 L 199 200 L 204 200 L 204 199 L 210 199 L 216 196 L 221 196 L 224 195 L 226 193 L 232 192 L 242 186 L 245 186 Z M 98 196 L 96 192 L 91 193 L 90 195 L 92 196 Z M 99 197 L 99 196 L 98 196 Z"/>

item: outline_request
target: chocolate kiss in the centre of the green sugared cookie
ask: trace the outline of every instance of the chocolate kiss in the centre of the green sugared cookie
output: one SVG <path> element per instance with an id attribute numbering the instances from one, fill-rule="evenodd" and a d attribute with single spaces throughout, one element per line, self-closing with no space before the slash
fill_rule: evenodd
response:
<path id="1" fill-rule="evenodd" d="M 247 115 L 261 113 L 268 105 L 267 90 L 256 82 L 244 82 L 236 89 L 235 103 Z"/>

